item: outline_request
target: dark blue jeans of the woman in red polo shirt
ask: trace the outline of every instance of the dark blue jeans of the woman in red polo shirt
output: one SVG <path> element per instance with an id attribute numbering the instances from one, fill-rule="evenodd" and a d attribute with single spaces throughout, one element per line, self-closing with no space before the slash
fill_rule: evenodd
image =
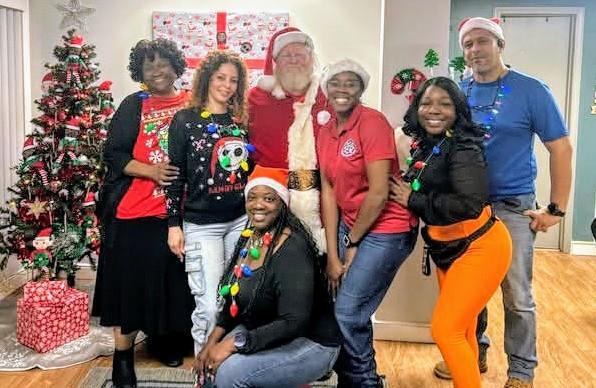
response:
<path id="1" fill-rule="evenodd" d="M 338 241 L 348 232 L 340 223 Z M 379 386 L 370 318 L 414 243 L 414 234 L 409 232 L 368 233 L 358 246 L 335 302 L 335 317 L 344 337 L 335 367 L 340 387 Z M 339 254 L 343 260 L 342 244 Z"/>

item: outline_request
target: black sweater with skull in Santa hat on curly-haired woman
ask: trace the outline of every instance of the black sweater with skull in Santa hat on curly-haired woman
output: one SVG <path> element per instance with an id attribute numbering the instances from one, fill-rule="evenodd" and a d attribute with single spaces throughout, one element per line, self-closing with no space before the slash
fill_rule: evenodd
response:
<path id="1" fill-rule="evenodd" d="M 209 127 L 212 123 L 217 130 Z M 210 224 L 244 214 L 244 186 L 250 173 L 248 141 L 244 129 L 238 127 L 232 133 L 232 128 L 236 125 L 229 113 L 203 118 L 196 108 L 182 109 L 172 119 L 168 155 L 180 175 L 166 188 L 170 226 L 182 225 L 182 218 Z"/>

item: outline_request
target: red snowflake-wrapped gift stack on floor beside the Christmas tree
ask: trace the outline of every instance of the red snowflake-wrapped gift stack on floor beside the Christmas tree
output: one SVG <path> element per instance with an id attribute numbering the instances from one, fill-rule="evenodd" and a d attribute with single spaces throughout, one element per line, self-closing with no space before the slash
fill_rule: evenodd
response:
<path id="1" fill-rule="evenodd" d="M 30 282 L 17 301 L 17 340 L 40 353 L 89 333 L 89 296 L 64 281 Z"/>

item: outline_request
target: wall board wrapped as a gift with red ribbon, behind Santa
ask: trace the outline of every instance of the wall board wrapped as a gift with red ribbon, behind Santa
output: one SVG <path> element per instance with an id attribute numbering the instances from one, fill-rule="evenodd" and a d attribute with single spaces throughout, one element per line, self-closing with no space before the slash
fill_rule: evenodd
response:
<path id="1" fill-rule="evenodd" d="M 271 36 L 289 25 L 287 13 L 186 13 L 154 12 L 153 38 L 177 43 L 188 69 L 181 86 L 190 89 L 194 69 L 209 51 L 228 49 L 240 55 L 254 84 L 263 73 L 267 46 Z"/>

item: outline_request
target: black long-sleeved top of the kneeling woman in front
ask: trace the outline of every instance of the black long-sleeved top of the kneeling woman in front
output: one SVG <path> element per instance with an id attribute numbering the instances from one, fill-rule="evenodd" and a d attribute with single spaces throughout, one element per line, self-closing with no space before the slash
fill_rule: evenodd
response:
<path id="1" fill-rule="evenodd" d="M 248 329 L 243 353 L 282 345 L 307 337 L 323 346 L 339 346 L 341 334 L 333 314 L 333 303 L 326 284 L 304 238 L 293 232 L 269 257 L 269 262 L 239 281 L 236 295 L 239 313 L 229 313 L 231 298 L 226 298 L 217 325 L 229 332 L 239 324 Z M 265 266 L 267 269 L 265 270 Z M 261 292 L 247 311 L 257 283 L 265 276 Z"/>

